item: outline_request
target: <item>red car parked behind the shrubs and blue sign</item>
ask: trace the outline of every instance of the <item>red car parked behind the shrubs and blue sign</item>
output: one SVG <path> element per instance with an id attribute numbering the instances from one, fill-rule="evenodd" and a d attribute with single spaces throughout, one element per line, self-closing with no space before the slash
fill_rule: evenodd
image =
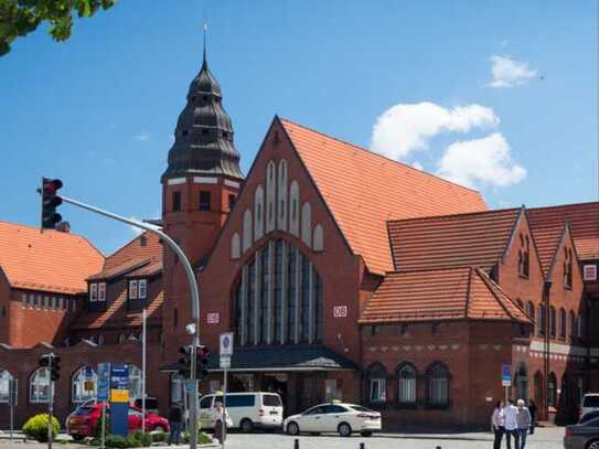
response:
<path id="1" fill-rule="evenodd" d="M 67 434 L 76 440 L 96 435 L 96 425 L 101 416 L 101 407 L 104 407 L 101 403 L 78 407 L 66 423 Z M 109 415 L 109 409 L 106 410 L 107 415 Z M 129 406 L 129 432 L 141 430 L 141 409 Z M 152 430 L 170 431 L 169 421 L 159 415 L 147 411 L 146 431 Z"/>

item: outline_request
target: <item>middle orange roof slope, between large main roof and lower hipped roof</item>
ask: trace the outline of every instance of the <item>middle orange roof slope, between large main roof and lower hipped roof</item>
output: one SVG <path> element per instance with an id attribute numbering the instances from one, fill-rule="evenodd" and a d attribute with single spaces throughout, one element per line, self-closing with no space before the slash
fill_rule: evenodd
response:
<path id="1" fill-rule="evenodd" d="M 503 256 L 522 209 L 432 216 L 388 223 L 395 269 L 478 266 Z"/>

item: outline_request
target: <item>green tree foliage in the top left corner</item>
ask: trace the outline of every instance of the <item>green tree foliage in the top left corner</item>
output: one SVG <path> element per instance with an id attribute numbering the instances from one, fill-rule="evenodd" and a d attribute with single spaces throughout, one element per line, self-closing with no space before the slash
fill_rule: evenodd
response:
<path id="1" fill-rule="evenodd" d="M 47 21 L 56 41 L 71 38 L 73 13 L 79 18 L 108 9 L 116 0 L 0 0 L 0 56 L 10 52 L 15 38 L 25 36 Z"/>

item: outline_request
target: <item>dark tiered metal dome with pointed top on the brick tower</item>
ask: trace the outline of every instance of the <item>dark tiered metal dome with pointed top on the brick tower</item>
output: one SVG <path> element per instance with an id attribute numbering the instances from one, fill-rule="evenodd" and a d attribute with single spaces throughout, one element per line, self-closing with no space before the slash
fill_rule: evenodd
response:
<path id="1" fill-rule="evenodd" d="M 169 167 L 162 180 L 186 174 L 225 174 L 243 179 L 239 152 L 233 143 L 233 126 L 223 108 L 218 82 L 210 72 L 206 56 L 188 93 L 179 116 Z"/>

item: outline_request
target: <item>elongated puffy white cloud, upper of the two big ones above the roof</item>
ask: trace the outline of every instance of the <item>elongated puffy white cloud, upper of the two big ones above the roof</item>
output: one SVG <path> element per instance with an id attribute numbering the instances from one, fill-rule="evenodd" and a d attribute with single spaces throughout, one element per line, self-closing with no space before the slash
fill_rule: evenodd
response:
<path id="1" fill-rule="evenodd" d="M 398 104 L 385 110 L 373 127 L 371 149 L 392 159 L 403 159 L 415 150 L 428 148 L 440 132 L 468 132 L 473 128 L 499 125 L 493 109 L 480 105 L 451 109 L 424 101 Z"/>

